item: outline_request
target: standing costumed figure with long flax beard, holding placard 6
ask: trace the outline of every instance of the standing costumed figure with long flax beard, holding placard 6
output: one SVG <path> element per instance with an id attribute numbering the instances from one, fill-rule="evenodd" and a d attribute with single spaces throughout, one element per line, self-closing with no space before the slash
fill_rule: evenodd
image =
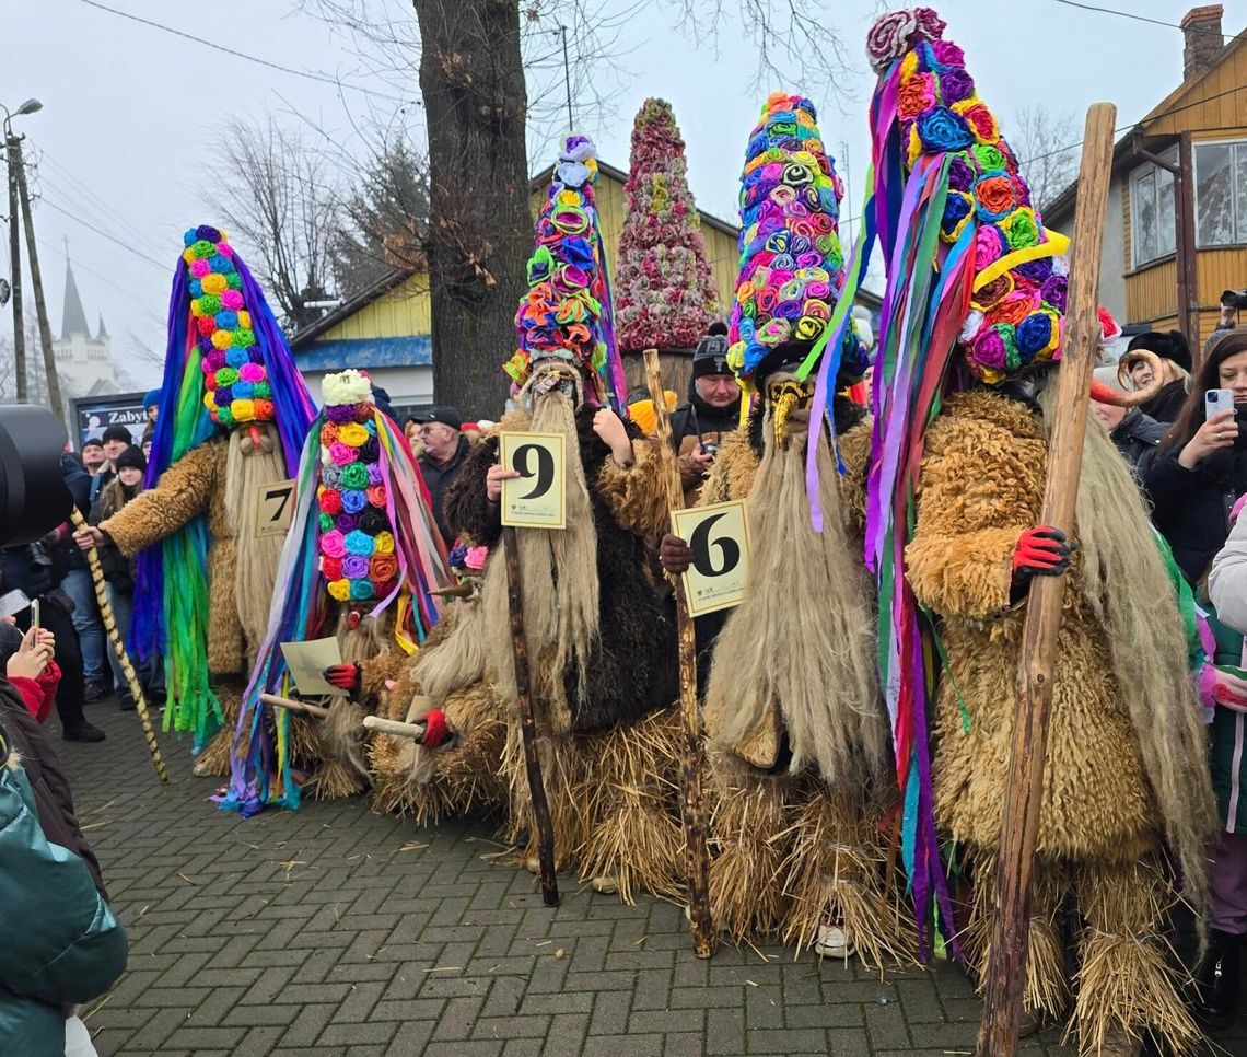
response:
<path id="1" fill-rule="evenodd" d="M 869 428 L 860 408 L 835 397 L 833 416 L 828 399 L 868 361 L 837 308 L 843 188 L 816 121 L 809 100 L 772 95 L 746 152 L 728 363 L 757 398 L 700 498 L 746 502 L 753 555 L 746 600 L 721 631 L 713 614 L 697 626 L 702 654 L 713 646 L 711 904 L 733 940 L 779 932 L 883 966 L 913 956 L 879 831 L 894 785 L 862 563 Z M 857 465 L 843 480 L 835 433 Z M 814 497 L 809 464 L 822 470 Z M 691 552 L 668 534 L 661 557 L 678 573 Z"/>

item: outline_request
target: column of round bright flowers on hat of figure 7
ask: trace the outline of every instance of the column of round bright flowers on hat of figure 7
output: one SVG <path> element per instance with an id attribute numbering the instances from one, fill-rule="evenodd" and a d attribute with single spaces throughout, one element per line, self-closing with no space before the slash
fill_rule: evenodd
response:
<path id="1" fill-rule="evenodd" d="M 217 426 L 272 422 L 273 389 L 242 296 L 242 276 L 224 232 L 203 225 L 182 238 L 190 271 L 191 329 L 207 392 L 203 403 Z"/>

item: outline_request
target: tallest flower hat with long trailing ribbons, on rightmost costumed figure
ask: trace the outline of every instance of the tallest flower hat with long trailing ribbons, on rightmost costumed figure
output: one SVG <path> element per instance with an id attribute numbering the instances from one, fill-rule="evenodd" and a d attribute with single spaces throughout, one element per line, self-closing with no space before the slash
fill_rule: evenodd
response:
<path id="1" fill-rule="evenodd" d="M 1059 357 L 1066 295 L 1059 255 L 1067 245 L 1045 231 L 1018 158 L 944 29 L 935 11 L 915 7 L 884 15 L 868 35 L 879 82 L 870 102 L 874 185 L 862 247 L 869 256 L 877 235 L 888 271 L 865 559 L 879 584 L 879 676 L 905 804 L 902 857 L 924 956 L 935 922 L 958 947 L 928 745 L 935 684 L 925 658 L 936 656 L 939 644 L 903 558 L 924 431 L 950 391 L 975 379 L 999 384 Z"/>

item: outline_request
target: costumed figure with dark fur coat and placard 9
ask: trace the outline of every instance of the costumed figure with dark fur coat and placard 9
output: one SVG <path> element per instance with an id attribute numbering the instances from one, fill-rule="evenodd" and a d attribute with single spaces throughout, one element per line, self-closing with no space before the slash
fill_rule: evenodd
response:
<path id="1" fill-rule="evenodd" d="M 681 882 L 680 726 L 670 708 L 673 620 L 646 547 L 666 518 L 666 493 L 657 451 L 619 414 L 624 373 L 611 329 L 596 172 L 592 144 L 570 137 L 537 218 L 530 290 L 516 316 L 519 351 L 505 367 L 518 407 L 471 451 L 446 495 L 446 520 L 490 547 L 480 600 L 470 616 L 453 618 L 459 626 L 444 645 L 416 656 L 412 689 L 444 700 L 444 711 L 425 720 L 455 739 L 471 741 L 483 724 L 504 716 L 506 822 L 535 867 L 519 721 L 498 709 L 516 696 L 499 505 L 503 479 L 514 473 L 498 464 L 499 438 L 516 431 L 562 434 L 567 527 L 516 532 L 537 749 L 559 869 L 575 866 L 630 900 L 635 889 L 675 892 Z M 468 636 L 471 646 L 456 645 Z M 473 691 L 480 709 L 466 715 L 450 691 L 481 680 L 494 694 Z M 409 708 L 409 689 L 395 698 L 399 709 Z M 421 753 L 429 750 L 425 738 Z M 433 750 L 434 769 L 443 751 Z"/>

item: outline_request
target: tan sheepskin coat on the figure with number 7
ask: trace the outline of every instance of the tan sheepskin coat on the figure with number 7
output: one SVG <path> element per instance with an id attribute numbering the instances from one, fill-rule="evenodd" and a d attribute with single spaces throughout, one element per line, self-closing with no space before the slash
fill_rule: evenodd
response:
<path id="1" fill-rule="evenodd" d="M 188 524 L 208 515 L 208 670 L 212 675 L 246 675 L 249 668 L 246 636 L 238 618 L 237 555 L 226 515 L 224 437 L 192 448 L 171 465 L 155 487 L 136 495 L 100 528 L 127 558 Z"/>

